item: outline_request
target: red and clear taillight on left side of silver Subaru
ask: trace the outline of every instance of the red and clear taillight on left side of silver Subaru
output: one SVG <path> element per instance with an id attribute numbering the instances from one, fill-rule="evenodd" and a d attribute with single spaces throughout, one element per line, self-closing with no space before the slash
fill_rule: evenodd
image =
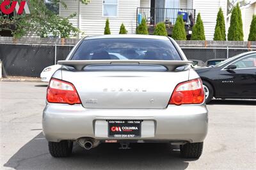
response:
<path id="1" fill-rule="evenodd" d="M 47 89 L 49 103 L 81 104 L 76 88 L 72 83 L 52 78 Z"/>

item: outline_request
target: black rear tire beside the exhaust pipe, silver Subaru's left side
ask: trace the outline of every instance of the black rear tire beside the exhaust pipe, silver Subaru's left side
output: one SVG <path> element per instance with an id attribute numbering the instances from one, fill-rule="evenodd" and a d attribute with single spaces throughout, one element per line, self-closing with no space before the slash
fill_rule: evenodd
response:
<path id="1" fill-rule="evenodd" d="M 48 142 L 49 152 L 52 157 L 68 157 L 72 153 L 72 141 Z"/>

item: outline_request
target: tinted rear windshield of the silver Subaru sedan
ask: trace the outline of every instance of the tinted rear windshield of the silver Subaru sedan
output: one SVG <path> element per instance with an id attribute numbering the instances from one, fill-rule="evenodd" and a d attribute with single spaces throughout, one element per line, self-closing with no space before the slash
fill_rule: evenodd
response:
<path id="1" fill-rule="evenodd" d="M 182 60 L 171 41 L 143 38 L 84 40 L 71 60 Z"/>

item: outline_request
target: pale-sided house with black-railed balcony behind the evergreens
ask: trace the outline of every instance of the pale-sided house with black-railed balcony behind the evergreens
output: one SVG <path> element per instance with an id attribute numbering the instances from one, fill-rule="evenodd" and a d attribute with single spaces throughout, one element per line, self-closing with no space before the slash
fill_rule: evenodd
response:
<path id="1" fill-rule="evenodd" d="M 109 18 L 111 34 L 118 34 L 122 23 L 128 34 L 135 34 L 136 23 L 140 22 L 138 15 L 147 18 L 148 25 L 157 22 L 169 22 L 173 25 L 178 12 L 188 14 L 188 24 L 191 24 L 189 15 L 193 20 L 200 12 L 205 36 L 212 39 L 220 7 L 227 16 L 227 0 L 92 0 L 87 5 L 78 0 L 65 0 L 65 3 L 68 8 L 60 6 L 60 15 L 67 17 L 76 12 L 77 16 L 70 19 L 70 22 L 86 35 L 103 34 L 106 18 Z"/>

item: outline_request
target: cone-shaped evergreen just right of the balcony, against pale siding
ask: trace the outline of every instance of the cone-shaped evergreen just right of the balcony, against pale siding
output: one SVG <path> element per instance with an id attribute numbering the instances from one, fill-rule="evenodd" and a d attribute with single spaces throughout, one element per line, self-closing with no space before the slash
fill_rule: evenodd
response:
<path id="1" fill-rule="evenodd" d="M 196 18 L 196 24 L 193 26 L 191 40 L 205 40 L 204 23 L 201 19 L 200 13 Z"/>

